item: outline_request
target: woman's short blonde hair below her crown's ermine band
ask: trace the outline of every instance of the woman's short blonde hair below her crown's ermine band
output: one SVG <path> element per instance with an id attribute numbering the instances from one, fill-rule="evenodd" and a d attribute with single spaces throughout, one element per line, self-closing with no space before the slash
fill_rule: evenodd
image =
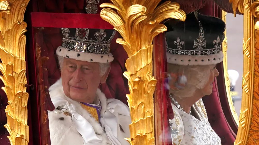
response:
<path id="1" fill-rule="evenodd" d="M 179 97 L 191 97 L 197 89 L 202 89 L 208 82 L 210 77 L 210 71 L 215 65 L 205 65 L 205 66 L 182 66 L 167 63 L 167 70 L 169 74 L 184 75 L 187 82 L 183 87 L 175 87 L 170 89 L 170 93 Z M 171 80 L 177 81 L 177 80 Z M 170 82 L 170 84 L 177 82 Z"/>

